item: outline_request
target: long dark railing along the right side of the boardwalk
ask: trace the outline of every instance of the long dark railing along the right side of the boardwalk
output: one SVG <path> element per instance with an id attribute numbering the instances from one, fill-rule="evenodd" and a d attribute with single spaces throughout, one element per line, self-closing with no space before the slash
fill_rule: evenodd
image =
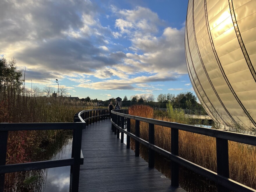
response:
<path id="1" fill-rule="evenodd" d="M 127 148 L 130 148 L 130 138 L 135 140 L 135 156 L 140 154 L 140 143 L 149 148 L 149 167 L 154 167 L 154 152 L 171 160 L 172 186 L 179 186 L 179 165 L 181 165 L 216 182 L 218 191 L 224 191 L 226 188 L 233 191 L 256 191 L 229 178 L 228 162 L 228 141 L 256 146 L 256 136 L 128 115 L 128 110 L 113 110 L 111 113 L 112 131 L 117 134 L 118 138 L 121 131 L 121 142 L 124 141 L 124 133 L 127 135 Z M 135 120 L 135 134 L 130 132 L 131 119 Z M 141 121 L 148 123 L 149 141 L 140 138 Z M 171 152 L 154 145 L 154 125 L 171 128 Z M 217 173 L 179 157 L 179 130 L 216 138 Z"/>

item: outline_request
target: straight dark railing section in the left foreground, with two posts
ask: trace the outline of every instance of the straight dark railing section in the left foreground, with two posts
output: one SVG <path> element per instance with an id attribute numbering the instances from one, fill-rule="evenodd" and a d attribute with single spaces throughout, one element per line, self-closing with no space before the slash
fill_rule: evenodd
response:
<path id="1" fill-rule="evenodd" d="M 5 173 L 71 166 L 70 191 L 78 191 L 80 165 L 83 164 L 81 152 L 82 129 L 85 123 L 0 123 L 0 191 L 4 191 Z M 48 161 L 36 161 L 6 165 L 8 131 L 31 130 L 73 130 L 72 157 Z"/>

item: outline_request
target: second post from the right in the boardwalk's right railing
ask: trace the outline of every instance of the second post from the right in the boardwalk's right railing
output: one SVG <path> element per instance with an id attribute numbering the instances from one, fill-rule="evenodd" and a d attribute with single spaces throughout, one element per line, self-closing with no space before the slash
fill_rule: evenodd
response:
<path id="1" fill-rule="evenodd" d="M 171 128 L 171 153 L 179 155 L 179 130 Z M 179 186 L 179 164 L 171 161 L 171 185 Z"/>

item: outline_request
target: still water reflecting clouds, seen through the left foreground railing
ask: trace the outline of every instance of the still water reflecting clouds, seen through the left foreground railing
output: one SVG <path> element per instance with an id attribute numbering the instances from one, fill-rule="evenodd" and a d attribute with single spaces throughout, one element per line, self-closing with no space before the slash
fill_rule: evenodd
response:
<path id="1" fill-rule="evenodd" d="M 69 159 L 72 152 L 72 139 L 63 146 L 53 159 Z M 43 191 L 49 192 L 69 192 L 70 185 L 70 166 L 55 167 L 46 169 L 46 180 Z"/>

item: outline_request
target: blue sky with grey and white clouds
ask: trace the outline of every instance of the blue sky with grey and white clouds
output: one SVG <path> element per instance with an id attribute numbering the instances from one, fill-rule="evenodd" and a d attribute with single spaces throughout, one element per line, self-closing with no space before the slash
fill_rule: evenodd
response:
<path id="1" fill-rule="evenodd" d="M 28 87 L 72 97 L 191 91 L 184 51 L 188 0 L 1 0 L 0 55 Z"/>

